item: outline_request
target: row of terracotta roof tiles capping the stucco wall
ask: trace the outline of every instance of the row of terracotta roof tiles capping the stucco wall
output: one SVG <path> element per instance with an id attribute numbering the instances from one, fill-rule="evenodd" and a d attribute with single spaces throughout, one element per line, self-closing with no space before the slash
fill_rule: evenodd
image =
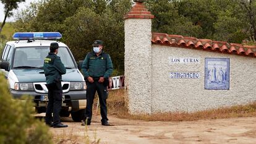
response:
<path id="1" fill-rule="evenodd" d="M 246 46 L 226 41 L 212 41 L 197 39 L 181 35 L 168 35 L 166 33 L 152 33 L 153 44 L 163 44 L 174 47 L 204 49 L 205 51 L 239 54 L 242 56 L 256 57 L 256 46 Z"/>

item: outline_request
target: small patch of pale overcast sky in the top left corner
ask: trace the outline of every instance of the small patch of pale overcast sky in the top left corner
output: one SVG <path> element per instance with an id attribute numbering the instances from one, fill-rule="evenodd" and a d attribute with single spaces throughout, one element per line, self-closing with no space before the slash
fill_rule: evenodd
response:
<path id="1" fill-rule="evenodd" d="M 38 0 L 25 0 L 25 2 L 21 2 L 19 4 L 19 10 L 21 9 L 25 9 L 26 6 L 28 6 L 30 4 L 30 2 L 33 2 L 33 1 L 38 1 Z M 14 11 L 14 14 L 15 12 L 18 12 L 17 10 Z M 0 22 L 2 22 L 2 20 L 4 20 L 4 5 L 0 2 Z M 6 22 L 14 22 L 14 16 L 12 17 L 9 17 L 7 18 Z"/>

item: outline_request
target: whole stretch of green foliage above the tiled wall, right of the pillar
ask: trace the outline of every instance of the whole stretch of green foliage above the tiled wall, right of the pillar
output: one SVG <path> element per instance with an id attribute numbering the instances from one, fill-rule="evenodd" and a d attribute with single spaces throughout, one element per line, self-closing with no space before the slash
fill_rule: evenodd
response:
<path id="1" fill-rule="evenodd" d="M 256 35 L 256 1 L 148 0 L 153 31 L 242 43 Z"/>

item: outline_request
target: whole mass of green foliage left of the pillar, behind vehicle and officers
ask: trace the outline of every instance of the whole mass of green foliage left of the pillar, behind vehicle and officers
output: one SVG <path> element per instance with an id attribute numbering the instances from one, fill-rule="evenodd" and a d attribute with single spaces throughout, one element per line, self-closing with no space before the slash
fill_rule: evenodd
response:
<path id="1" fill-rule="evenodd" d="M 104 41 L 104 51 L 113 59 L 117 74 L 124 74 L 124 20 L 129 0 L 48 1 L 32 4 L 17 17 L 15 28 L 21 32 L 62 33 L 62 41 L 77 60 L 92 51 L 94 40 Z"/>

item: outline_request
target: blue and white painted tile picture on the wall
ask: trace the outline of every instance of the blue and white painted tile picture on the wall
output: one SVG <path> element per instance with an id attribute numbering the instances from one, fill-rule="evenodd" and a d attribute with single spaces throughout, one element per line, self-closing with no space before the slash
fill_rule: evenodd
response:
<path id="1" fill-rule="evenodd" d="M 229 59 L 205 58 L 205 89 L 229 90 Z"/>

